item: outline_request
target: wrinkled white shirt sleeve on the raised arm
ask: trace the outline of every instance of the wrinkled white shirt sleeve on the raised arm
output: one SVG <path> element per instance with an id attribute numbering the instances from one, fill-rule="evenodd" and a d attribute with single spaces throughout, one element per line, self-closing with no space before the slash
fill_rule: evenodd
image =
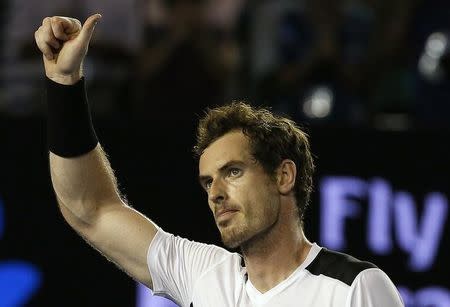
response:
<path id="1" fill-rule="evenodd" d="M 230 255 L 218 246 L 193 242 L 159 228 L 147 253 L 153 293 L 189 306 L 197 280 Z"/>

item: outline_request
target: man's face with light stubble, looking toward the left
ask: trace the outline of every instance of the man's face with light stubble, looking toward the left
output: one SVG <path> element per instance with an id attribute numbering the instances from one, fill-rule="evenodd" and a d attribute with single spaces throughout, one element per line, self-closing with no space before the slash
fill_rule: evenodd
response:
<path id="1" fill-rule="evenodd" d="M 277 185 L 251 155 L 241 131 L 225 134 L 200 157 L 199 178 L 225 246 L 263 235 L 278 218 Z"/>

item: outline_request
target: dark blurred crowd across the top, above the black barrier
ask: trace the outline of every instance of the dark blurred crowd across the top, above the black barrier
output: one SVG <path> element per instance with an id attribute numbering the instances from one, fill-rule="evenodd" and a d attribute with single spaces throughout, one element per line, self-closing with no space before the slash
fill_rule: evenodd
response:
<path id="1" fill-rule="evenodd" d="M 42 116 L 33 33 L 103 15 L 85 63 L 95 117 L 182 122 L 247 100 L 299 122 L 450 127 L 445 0 L 8 0 L 0 114 Z"/>

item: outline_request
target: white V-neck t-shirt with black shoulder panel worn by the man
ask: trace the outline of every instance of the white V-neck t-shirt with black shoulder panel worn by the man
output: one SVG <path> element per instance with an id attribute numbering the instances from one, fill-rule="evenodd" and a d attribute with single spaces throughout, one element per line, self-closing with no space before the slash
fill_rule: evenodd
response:
<path id="1" fill-rule="evenodd" d="M 153 293 L 193 307 L 397 307 L 389 277 L 373 264 L 314 244 L 306 260 L 265 293 L 247 278 L 242 257 L 159 229 L 150 244 Z"/>

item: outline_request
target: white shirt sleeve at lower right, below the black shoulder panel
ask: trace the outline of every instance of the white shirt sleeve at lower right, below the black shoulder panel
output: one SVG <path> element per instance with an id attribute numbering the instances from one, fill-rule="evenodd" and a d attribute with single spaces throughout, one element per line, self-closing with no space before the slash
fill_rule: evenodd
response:
<path id="1" fill-rule="evenodd" d="M 347 307 L 402 307 L 397 288 L 389 277 L 378 268 L 358 274 L 351 285 Z"/>

